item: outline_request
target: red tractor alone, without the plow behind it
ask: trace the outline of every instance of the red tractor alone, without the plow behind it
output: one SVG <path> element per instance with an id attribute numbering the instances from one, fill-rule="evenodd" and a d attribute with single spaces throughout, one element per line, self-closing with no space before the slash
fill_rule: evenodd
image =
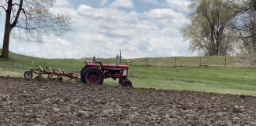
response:
<path id="1" fill-rule="evenodd" d="M 132 83 L 127 79 L 129 72 L 128 65 L 104 65 L 101 62 L 86 62 L 85 67 L 81 69 L 81 80 L 88 84 L 102 84 L 104 79 L 119 79 L 123 87 L 132 87 Z"/>

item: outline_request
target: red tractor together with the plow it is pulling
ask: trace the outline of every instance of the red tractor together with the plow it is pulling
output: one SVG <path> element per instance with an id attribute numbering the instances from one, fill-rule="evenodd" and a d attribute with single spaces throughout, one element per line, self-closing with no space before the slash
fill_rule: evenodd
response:
<path id="1" fill-rule="evenodd" d="M 30 69 L 24 72 L 24 78 L 32 79 L 33 74 L 37 76 L 47 76 L 48 79 L 57 79 L 59 81 L 66 77 L 70 80 L 76 80 L 85 84 L 101 85 L 104 79 L 111 78 L 119 80 L 122 87 L 132 87 L 132 82 L 128 79 L 129 65 L 107 65 L 101 62 L 85 61 L 85 66 L 80 74 L 67 72 L 62 69 L 46 67 L 43 69 Z"/>

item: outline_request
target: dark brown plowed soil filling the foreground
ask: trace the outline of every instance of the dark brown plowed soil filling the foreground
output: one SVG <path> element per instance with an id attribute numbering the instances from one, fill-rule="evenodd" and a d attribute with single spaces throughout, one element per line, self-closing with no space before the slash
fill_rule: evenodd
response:
<path id="1" fill-rule="evenodd" d="M 256 98 L 0 77 L 0 125 L 256 125 Z"/>

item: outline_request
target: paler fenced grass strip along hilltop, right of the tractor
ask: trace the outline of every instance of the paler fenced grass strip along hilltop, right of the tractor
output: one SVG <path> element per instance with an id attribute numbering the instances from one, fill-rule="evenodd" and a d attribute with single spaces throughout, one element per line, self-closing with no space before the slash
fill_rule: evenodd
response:
<path id="1" fill-rule="evenodd" d="M 256 58 L 250 56 L 238 57 L 145 57 L 127 59 L 127 65 L 144 66 L 235 66 L 255 67 Z"/>

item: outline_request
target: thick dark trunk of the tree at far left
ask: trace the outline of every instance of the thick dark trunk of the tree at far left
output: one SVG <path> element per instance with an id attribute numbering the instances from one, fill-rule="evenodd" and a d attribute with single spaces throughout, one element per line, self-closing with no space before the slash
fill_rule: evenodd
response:
<path id="1" fill-rule="evenodd" d="M 1 57 L 3 58 L 8 58 L 9 57 L 9 35 L 10 31 L 12 30 L 11 28 L 11 13 L 12 13 L 12 6 L 13 6 L 13 0 L 8 1 L 8 7 L 6 10 L 6 25 L 5 25 L 5 34 L 3 38 L 3 44 L 2 44 L 2 55 Z"/>

